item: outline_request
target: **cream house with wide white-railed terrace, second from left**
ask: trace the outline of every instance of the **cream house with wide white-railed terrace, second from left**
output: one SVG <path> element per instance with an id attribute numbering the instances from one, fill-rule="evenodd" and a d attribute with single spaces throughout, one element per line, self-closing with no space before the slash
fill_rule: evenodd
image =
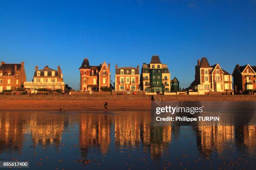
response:
<path id="1" fill-rule="evenodd" d="M 57 67 L 57 70 L 54 70 L 46 65 L 44 69 L 38 70 L 38 66 L 36 65 L 33 81 L 24 82 L 24 88 L 30 89 L 32 93 L 37 92 L 38 89 L 61 89 L 64 92 L 65 83 L 60 66 Z"/>

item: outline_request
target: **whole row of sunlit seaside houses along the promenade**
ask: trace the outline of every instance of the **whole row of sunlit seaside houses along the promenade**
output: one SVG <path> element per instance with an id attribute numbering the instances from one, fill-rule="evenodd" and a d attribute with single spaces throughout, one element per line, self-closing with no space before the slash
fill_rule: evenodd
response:
<path id="1" fill-rule="evenodd" d="M 139 91 L 169 93 L 180 90 L 177 77 L 171 80 L 171 73 L 166 64 L 161 63 L 159 56 L 151 57 L 149 64 L 140 66 L 118 67 L 115 65 L 115 82 L 110 80 L 110 64 L 104 61 L 100 65 L 92 66 L 88 58 L 84 58 L 80 70 L 80 91 Z M 233 76 L 233 81 L 232 81 Z M 57 70 L 45 66 L 38 70 L 35 67 L 33 80 L 26 81 L 24 62 L 20 64 L 0 65 L 0 92 L 6 90 L 38 89 L 61 90 L 68 92 L 70 87 L 65 85 L 60 66 Z M 233 89 L 234 88 L 234 89 Z M 210 65 L 206 57 L 197 60 L 195 66 L 195 80 L 188 88 L 197 92 L 232 92 L 240 94 L 256 90 L 256 66 L 236 65 L 233 74 L 225 71 L 218 63 Z M 203 93 L 204 94 L 204 93 Z"/>

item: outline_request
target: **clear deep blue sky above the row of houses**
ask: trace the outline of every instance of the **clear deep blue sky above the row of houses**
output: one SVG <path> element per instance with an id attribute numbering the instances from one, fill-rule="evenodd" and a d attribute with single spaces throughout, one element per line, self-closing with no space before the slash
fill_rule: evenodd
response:
<path id="1" fill-rule="evenodd" d="M 256 65 L 256 0 L 6 0 L 0 1 L 0 60 L 60 65 L 64 80 L 79 86 L 84 57 L 90 65 L 136 67 L 159 55 L 181 87 L 194 80 L 205 56 L 232 73 Z"/>

